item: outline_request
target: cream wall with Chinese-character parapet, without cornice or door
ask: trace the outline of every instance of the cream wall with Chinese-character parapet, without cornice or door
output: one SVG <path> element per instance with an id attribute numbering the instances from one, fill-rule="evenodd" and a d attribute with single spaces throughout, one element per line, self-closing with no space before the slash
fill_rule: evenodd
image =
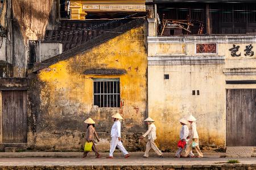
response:
<path id="1" fill-rule="evenodd" d="M 184 40 L 187 38 L 189 39 L 189 36 L 184 37 Z M 189 56 L 203 59 L 205 56 L 224 56 L 225 64 L 148 66 L 148 114 L 156 120 L 160 147 L 165 149 L 176 146 L 179 140 L 179 119 L 188 114 L 197 118 L 201 145 L 225 146 L 226 88 L 256 88 L 255 84 L 226 84 L 225 80 L 255 80 L 256 75 L 225 75 L 223 71 L 256 69 L 256 43 L 221 42 L 217 43 L 216 54 L 196 54 L 196 43 L 204 42 L 162 41 L 148 43 L 149 58 Z M 229 49 L 233 44 L 240 45 L 237 53 L 241 53 L 241 57 L 230 55 Z M 243 50 L 249 44 L 254 46 L 253 57 L 244 55 Z M 169 74 L 170 79 L 164 80 L 164 74 Z M 200 90 L 200 95 L 192 96 L 192 90 Z"/>

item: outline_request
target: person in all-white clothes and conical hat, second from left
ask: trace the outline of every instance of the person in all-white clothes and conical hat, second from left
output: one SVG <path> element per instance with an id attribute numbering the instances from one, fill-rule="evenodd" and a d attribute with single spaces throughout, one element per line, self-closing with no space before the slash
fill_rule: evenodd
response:
<path id="1" fill-rule="evenodd" d="M 123 147 L 123 144 L 121 142 L 121 122 L 119 119 L 123 119 L 122 116 L 117 113 L 114 114 L 113 116 L 114 124 L 111 129 L 111 142 L 110 142 L 110 151 L 109 151 L 109 157 L 107 158 L 114 158 L 113 153 L 115 151 L 115 148 L 118 147 L 119 150 L 125 155 L 125 158 L 129 158 L 130 155 L 126 151 L 125 147 Z"/>

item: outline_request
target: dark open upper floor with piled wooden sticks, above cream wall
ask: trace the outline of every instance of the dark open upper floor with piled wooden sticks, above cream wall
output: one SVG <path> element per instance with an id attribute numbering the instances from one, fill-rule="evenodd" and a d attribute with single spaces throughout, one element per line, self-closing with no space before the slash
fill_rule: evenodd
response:
<path id="1" fill-rule="evenodd" d="M 157 11 L 159 36 L 256 33 L 255 3 L 172 3 Z"/>

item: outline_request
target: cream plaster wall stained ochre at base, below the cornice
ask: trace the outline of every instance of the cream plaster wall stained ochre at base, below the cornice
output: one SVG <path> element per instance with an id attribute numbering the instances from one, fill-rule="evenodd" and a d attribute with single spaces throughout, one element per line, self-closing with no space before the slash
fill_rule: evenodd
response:
<path id="1" fill-rule="evenodd" d="M 225 145 L 224 65 L 148 66 L 148 113 L 163 150 L 176 146 L 179 119 L 193 114 L 201 145 Z M 164 79 L 169 74 L 170 79 Z M 157 82 L 157 83 L 156 83 Z M 192 95 L 192 90 L 200 95 Z"/>

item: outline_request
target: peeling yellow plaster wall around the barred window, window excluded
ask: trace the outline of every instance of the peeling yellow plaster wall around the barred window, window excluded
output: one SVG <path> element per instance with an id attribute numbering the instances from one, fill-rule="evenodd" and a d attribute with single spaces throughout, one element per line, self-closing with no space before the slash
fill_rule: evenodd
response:
<path id="1" fill-rule="evenodd" d="M 133 28 L 34 75 L 28 146 L 43 150 L 78 150 L 84 144 L 84 120 L 92 117 L 101 139 L 98 148 L 106 151 L 113 124 L 111 116 L 121 113 L 125 145 L 134 142 L 140 147 L 136 134 L 144 131 L 147 102 L 147 53 L 143 34 L 144 27 Z M 125 69 L 127 74 L 84 75 L 88 69 Z M 93 107 L 92 78 L 120 78 L 123 107 Z"/>

